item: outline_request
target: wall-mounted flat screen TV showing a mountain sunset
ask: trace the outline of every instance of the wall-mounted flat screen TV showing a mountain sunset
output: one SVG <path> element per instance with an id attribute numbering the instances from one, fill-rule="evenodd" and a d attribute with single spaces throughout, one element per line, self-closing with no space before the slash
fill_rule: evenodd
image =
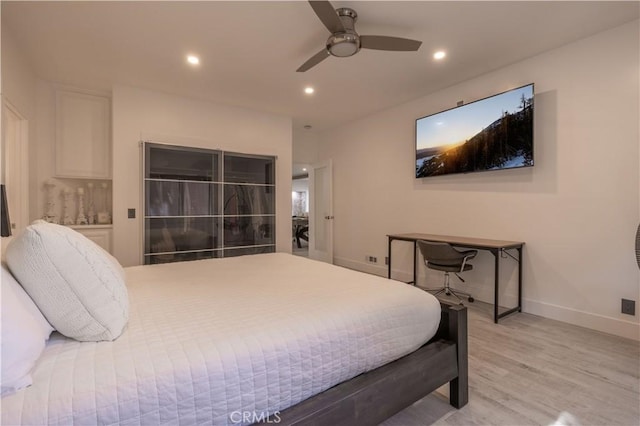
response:
<path id="1" fill-rule="evenodd" d="M 416 120 L 416 178 L 533 166 L 533 84 Z"/>

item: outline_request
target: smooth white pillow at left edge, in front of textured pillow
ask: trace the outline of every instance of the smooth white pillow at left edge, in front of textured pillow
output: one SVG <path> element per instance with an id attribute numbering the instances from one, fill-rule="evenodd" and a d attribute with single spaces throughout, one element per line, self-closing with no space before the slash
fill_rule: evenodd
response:
<path id="1" fill-rule="evenodd" d="M 53 328 L 4 264 L 0 281 L 4 396 L 31 384 L 31 369 L 44 350 Z"/>

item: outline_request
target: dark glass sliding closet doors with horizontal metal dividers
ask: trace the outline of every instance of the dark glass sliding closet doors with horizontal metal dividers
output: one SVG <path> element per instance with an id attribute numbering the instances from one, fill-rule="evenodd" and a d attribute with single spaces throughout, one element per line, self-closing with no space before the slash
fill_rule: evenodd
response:
<path id="1" fill-rule="evenodd" d="M 144 263 L 275 251 L 275 157 L 144 143 Z"/>

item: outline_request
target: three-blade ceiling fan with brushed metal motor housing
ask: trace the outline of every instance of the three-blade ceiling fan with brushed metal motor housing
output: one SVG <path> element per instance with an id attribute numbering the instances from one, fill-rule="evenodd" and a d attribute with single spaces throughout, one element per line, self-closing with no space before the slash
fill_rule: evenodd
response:
<path id="1" fill-rule="evenodd" d="M 327 59 L 329 55 L 345 58 L 355 55 L 360 49 L 408 52 L 418 50 L 422 44 L 421 41 L 408 38 L 379 35 L 361 36 L 354 28 L 354 24 L 358 19 L 358 14 L 355 10 L 348 7 L 334 9 L 327 0 L 310 0 L 309 4 L 331 35 L 327 39 L 326 46 L 302 64 L 296 70 L 297 72 L 307 71 Z"/>

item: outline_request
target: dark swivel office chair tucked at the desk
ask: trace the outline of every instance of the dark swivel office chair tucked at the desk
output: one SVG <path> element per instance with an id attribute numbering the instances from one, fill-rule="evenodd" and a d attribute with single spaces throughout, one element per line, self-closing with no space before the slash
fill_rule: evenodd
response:
<path id="1" fill-rule="evenodd" d="M 469 302 L 473 302 L 474 299 L 469 293 L 454 290 L 449 286 L 449 273 L 453 272 L 456 277 L 460 278 L 460 281 L 464 282 L 458 273 L 473 269 L 473 265 L 467 262 L 476 257 L 478 250 L 460 251 L 449 243 L 424 240 L 418 241 L 418 247 L 424 257 L 424 263 L 427 268 L 444 271 L 444 287 L 427 288 L 425 290 L 433 292 L 434 296 L 440 293 L 444 293 L 447 296 L 453 295 L 460 301 L 461 305 L 462 298 L 460 296 L 465 296 Z"/>

